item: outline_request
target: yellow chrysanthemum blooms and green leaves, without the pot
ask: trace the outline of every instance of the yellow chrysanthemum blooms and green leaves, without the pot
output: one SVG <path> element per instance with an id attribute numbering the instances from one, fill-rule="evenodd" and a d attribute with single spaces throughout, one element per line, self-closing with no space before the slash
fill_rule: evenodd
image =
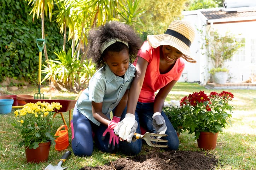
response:
<path id="1" fill-rule="evenodd" d="M 55 145 L 54 113 L 58 112 L 62 105 L 58 102 L 27 103 L 22 109 L 14 111 L 12 125 L 19 129 L 22 141 L 19 147 L 25 146 L 36 149 L 40 143 L 51 141 Z M 20 136 L 17 137 L 20 138 Z"/>

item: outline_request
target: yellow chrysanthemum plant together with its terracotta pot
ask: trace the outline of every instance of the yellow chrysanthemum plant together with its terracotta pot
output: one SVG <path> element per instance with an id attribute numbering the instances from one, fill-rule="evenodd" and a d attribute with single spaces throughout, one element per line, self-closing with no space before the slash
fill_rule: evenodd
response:
<path id="1" fill-rule="evenodd" d="M 27 103 L 14 111 L 12 125 L 22 137 L 19 147 L 25 146 L 27 162 L 39 163 L 48 160 L 50 146 L 55 145 L 53 114 L 62 106 L 58 102 Z M 18 139 L 17 138 L 17 139 Z"/>

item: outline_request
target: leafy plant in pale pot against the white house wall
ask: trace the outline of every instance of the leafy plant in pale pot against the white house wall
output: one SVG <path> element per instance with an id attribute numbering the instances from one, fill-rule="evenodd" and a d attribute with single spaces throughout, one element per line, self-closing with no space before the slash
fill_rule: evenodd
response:
<path id="1" fill-rule="evenodd" d="M 201 35 L 203 36 L 202 32 Z M 210 32 L 210 36 L 203 36 L 204 43 L 201 49 L 212 61 L 213 68 L 209 73 L 216 84 L 224 84 L 227 81 L 228 69 L 224 67 L 224 62 L 231 59 L 239 48 L 244 46 L 244 39 L 238 41 L 233 34 L 227 32 L 220 36 L 217 31 Z"/>

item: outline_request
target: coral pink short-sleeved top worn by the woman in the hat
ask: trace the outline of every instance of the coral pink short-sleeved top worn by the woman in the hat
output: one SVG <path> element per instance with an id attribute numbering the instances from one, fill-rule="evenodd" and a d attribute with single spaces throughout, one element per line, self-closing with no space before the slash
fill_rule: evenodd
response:
<path id="1" fill-rule="evenodd" d="M 155 92 L 173 80 L 178 81 L 182 71 L 184 70 L 185 64 L 182 59 L 179 58 L 176 60 L 174 67 L 168 73 L 160 74 L 160 49 L 160 47 L 153 48 L 147 41 L 145 41 L 138 52 L 138 56 L 144 58 L 148 62 L 144 82 L 138 100 L 139 102 L 154 102 Z M 133 64 L 136 65 L 136 63 L 137 59 Z"/>

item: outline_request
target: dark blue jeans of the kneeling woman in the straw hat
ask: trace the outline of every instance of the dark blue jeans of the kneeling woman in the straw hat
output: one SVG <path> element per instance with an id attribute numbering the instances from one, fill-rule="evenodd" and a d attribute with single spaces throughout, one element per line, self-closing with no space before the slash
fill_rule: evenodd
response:
<path id="1" fill-rule="evenodd" d="M 140 126 L 144 127 L 147 132 L 156 133 L 156 130 L 152 125 L 152 116 L 154 114 L 153 105 L 154 103 L 138 102 L 136 106 L 135 115 L 138 115 L 139 117 Z M 162 111 L 161 114 L 164 117 L 165 124 L 167 126 L 167 130 L 165 132 L 165 134 L 167 134 L 167 137 L 162 138 L 167 139 L 168 142 L 159 144 L 168 145 L 168 148 L 166 148 L 166 150 L 177 150 L 179 147 L 179 138 L 177 136 L 177 133 L 173 128 L 173 125 L 171 124 L 170 120 L 165 115 L 165 113 Z"/>

